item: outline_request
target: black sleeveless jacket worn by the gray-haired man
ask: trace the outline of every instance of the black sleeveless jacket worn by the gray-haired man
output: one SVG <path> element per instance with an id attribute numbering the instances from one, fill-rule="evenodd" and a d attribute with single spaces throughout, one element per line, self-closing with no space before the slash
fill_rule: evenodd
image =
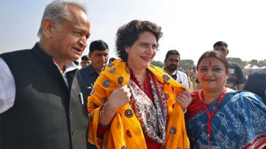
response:
<path id="1" fill-rule="evenodd" d="M 15 79 L 15 103 L 1 113 L 1 149 L 87 148 L 87 106 L 78 98 L 80 75 L 67 88 L 52 57 L 33 49 L 1 54 Z"/>

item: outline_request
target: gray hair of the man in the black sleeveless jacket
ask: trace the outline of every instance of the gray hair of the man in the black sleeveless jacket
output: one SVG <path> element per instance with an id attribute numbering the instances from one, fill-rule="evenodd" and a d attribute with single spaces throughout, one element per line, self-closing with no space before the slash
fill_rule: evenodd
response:
<path id="1" fill-rule="evenodd" d="M 43 36 L 42 24 L 45 19 L 50 19 L 50 21 L 55 24 L 57 31 L 60 31 L 62 29 L 62 22 L 64 22 L 64 20 L 71 20 L 71 13 L 69 13 L 67 6 L 76 6 L 83 10 L 84 13 L 86 13 L 85 5 L 84 3 L 81 3 L 81 1 L 52 1 L 52 3 L 48 4 L 48 6 L 46 6 L 44 10 L 43 18 L 41 19 L 41 26 L 38 29 L 37 34 L 39 38 Z"/>

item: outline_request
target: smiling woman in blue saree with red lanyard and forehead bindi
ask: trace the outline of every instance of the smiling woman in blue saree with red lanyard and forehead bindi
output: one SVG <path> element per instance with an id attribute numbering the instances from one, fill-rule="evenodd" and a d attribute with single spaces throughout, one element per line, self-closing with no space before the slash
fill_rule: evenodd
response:
<path id="1" fill-rule="evenodd" d="M 266 148 L 266 106 L 258 95 L 226 87 L 226 58 L 205 52 L 197 72 L 202 89 L 186 113 L 190 148 Z"/>

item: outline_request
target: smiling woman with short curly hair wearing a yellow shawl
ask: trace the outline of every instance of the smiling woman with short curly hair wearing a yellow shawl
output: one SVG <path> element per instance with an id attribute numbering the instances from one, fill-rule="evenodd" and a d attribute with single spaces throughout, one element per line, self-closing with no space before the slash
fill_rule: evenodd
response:
<path id="1" fill-rule="evenodd" d="M 189 148 L 183 109 L 191 96 L 161 68 L 160 26 L 133 20 L 118 29 L 118 58 L 88 97 L 89 141 L 97 148 Z M 177 102 L 176 102 L 177 101 Z"/>

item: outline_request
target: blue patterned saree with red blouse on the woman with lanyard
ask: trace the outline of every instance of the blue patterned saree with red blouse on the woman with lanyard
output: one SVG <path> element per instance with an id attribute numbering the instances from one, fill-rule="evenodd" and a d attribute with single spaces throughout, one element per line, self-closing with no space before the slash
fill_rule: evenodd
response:
<path id="1" fill-rule="evenodd" d="M 208 145 L 207 113 L 197 91 L 186 113 L 190 148 Z M 218 100 L 208 104 L 213 111 Z M 211 146 L 266 148 L 266 106 L 258 95 L 246 91 L 226 93 L 211 119 Z"/>

